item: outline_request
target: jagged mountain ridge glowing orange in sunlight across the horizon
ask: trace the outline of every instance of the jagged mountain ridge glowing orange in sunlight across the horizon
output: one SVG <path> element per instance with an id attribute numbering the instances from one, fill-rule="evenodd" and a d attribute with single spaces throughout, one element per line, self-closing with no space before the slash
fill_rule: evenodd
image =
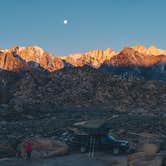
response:
<path id="1" fill-rule="evenodd" d="M 112 71 L 121 69 L 122 75 L 126 76 L 131 75 L 131 71 L 134 76 L 146 76 L 147 72 L 152 76 L 153 72 L 155 78 L 160 79 L 161 77 L 161 80 L 166 80 L 166 50 L 154 46 L 145 48 L 142 45 L 136 45 L 125 47 L 120 52 L 108 48 L 104 51 L 92 50 L 68 56 L 55 56 L 37 46 L 0 50 L 0 68 L 7 71 L 39 69 L 55 72 L 66 67 L 83 67 L 85 65 Z M 124 67 L 125 73 L 122 70 Z M 130 68 L 129 71 L 128 68 Z"/>

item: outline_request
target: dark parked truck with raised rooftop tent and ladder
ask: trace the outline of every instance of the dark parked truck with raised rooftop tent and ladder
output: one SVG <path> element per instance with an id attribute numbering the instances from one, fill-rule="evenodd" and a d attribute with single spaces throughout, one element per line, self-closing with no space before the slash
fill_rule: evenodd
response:
<path id="1" fill-rule="evenodd" d="M 129 150 L 129 142 L 116 139 L 104 127 L 104 122 L 86 121 L 75 125 L 75 145 L 81 152 L 110 151 L 114 155 L 126 153 Z"/>

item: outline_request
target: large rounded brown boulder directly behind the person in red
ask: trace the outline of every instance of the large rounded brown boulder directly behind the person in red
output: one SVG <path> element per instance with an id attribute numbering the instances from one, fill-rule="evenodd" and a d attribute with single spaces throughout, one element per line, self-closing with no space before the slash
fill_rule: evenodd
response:
<path id="1" fill-rule="evenodd" d="M 26 158 L 25 143 L 27 140 L 19 144 L 19 151 L 23 158 Z M 32 158 L 48 158 L 52 156 L 62 156 L 69 152 L 69 147 L 60 142 L 48 138 L 32 138 L 28 140 L 32 143 Z"/>

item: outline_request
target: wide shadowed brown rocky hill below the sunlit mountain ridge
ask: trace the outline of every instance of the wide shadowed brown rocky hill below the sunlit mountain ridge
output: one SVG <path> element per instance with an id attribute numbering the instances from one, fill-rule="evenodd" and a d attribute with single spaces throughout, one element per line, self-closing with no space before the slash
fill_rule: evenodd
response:
<path id="1" fill-rule="evenodd" d="M 161 81 L 123 78 L 88 66 L 50 74 L 41 71 L 12 74 L 1 76 L 4 84 L 1 84 L 1 94 L 5 94 L 5 97 L 1 95 L 1 103 L 18 112 L 47 111 L 56 107 L 165 112 L 166 84 Z"/>

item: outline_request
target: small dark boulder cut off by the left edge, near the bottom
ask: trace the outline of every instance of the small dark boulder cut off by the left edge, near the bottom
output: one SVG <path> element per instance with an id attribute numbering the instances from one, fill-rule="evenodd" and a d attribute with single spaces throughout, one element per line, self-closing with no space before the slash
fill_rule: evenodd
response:
<path id="1" fill-rule="evenodd" d="M 8 144 L 0 144 L 0 158 L 15 156 L 15 150 Z"/>

